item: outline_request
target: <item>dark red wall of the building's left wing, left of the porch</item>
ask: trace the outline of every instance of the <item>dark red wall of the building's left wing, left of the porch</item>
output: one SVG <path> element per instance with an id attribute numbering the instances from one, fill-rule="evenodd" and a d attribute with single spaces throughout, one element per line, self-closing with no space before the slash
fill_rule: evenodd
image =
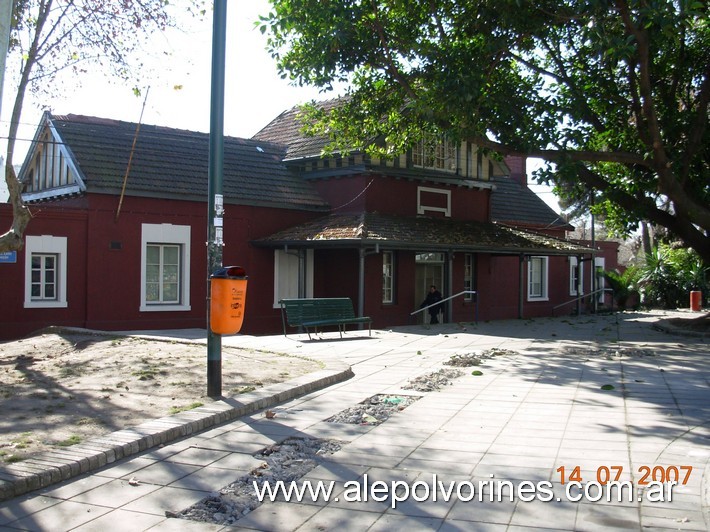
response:
<path id="1" fill-rule="evenodd" d="M 26 235 L 67 236 L 66 309 L 24 309 L 24 251 L 16 264 L 0 264 L 0 339 L 24 336 L 49 325 L 98 330 L 179 329 L 206 326 L 206 206 L 126 197 L 116 221 L 117 198 L 89 195 L 33 205 Z M 82 208 L 83 207 L 83 208 Z M 276 332 L 281 317 L 272 305 L 274 252 L 250 244 L 319 213 L 226 205 L 223 263 L 240 265 L 249 275 L 244 333 Z M 0 224 L 12 212 L 0 205 Z M 141 224 L 190 226 L 190 310 L 140 311 Z M 111 249 L 111 243 L 120 249 Z M 268 297 L 266 296 L 268 294 Z M 251 296 L 251 297 L 250 297 Z M 19 309 L 19 311 L 18 311 Z"/>

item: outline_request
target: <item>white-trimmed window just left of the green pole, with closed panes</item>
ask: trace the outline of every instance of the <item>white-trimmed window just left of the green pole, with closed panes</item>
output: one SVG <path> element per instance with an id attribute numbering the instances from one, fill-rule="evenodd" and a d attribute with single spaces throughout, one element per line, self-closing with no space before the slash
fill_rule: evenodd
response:
<path id="1" fill-rule="evenodd" d="M 190 226 L 142 224 L 142 312 L 190 310 Z"/>

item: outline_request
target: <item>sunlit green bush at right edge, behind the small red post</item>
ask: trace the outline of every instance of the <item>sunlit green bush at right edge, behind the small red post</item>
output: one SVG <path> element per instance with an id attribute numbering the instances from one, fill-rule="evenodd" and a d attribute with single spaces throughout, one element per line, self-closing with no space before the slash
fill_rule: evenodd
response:
<path id="1" fill-rule="evenodd" d="M 660 244 L 646 255 L 646 264 L 640 268 L 642 302 L 650 307 L 687 307 L 691 291 L 700 290 L 707 297 L 709 273 L 710 268 L 693 250 Z"/>

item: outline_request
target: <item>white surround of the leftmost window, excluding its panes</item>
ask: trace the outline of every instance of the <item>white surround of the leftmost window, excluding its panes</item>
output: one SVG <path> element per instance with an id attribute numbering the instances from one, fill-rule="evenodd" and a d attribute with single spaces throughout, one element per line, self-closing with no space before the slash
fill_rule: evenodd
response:
<path id="1" fill-rule="evenodd" d="M 57 257 L 56 297 L 32 299 L 32 256 L 55 255 Z M 25 238 L 25 308 L 67 308 L 67 237 L 27 236 Z"/>

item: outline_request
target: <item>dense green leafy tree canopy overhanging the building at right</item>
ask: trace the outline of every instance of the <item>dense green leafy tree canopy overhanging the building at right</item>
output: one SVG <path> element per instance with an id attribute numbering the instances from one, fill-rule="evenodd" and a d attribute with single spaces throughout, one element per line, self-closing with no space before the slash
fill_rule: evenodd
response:
<path id="1" fill-rule="evenodd" d="M 282 76 L 349 87 L 307 107 L 332 148 L 392 155 L 446 132 L 539 157 L 572 203 L 593 192 L 619 232 L 651 221 L 710 263 L 707 2 L 271 4 L 257 25 Z"/>

